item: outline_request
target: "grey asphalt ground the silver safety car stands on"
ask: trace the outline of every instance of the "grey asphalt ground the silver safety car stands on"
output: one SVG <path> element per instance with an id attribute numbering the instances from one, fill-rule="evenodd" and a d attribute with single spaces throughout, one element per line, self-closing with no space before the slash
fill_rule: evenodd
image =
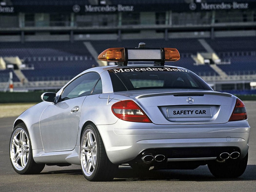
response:
<path id="1" fill-rule="evenodd" d="M 252 127 L 249 161 L 236 179 L 216 179 L 207 166 L 195 170 L 153 170 L 135 173 L 119 167 L 113 182 L 88 182 L 79 165 L 46 166 L 38 175 L 17 174 L 9 160 L 8 145 L 16 118 L 0 119 L 0 191 L 256 191 L 256 102 L 245 102 Z"/>

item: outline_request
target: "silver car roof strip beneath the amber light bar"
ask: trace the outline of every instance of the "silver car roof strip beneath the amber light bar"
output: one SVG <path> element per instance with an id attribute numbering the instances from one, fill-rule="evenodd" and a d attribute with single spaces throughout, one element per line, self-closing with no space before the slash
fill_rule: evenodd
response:
<path id="1" fill-rule="evenodd" d="M 111 69 L 121 69 L 121 68 L 135 68 L 135 67 L 172 67 L 172 68 L 178 68 L 178 69 L 186 69 L 183 67 L 176 67 L 176 66 L 169 66 L 169 65 L 165 65 L 165 66 L 159 66 L 159 65 L 127 65 L 127 66 L 122 66 L 122 65 L 114 65 L 114 66 L 102 66 L 102 67 L 94 67 L 94 68 L 90 68 L 87 69 L 85 71 L 83 71 L 80 75 L 87 73 L 87 72 L 98 72 L 99 74 L 102 73 L 103 71 L 106 70 L 111 70 Z"/>

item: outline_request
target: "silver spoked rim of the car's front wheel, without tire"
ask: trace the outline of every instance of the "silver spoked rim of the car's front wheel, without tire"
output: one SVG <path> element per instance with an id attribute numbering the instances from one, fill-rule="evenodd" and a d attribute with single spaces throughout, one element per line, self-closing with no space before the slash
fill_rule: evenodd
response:
<path id="1" fill-rule="evenodd" d="M 10 143 L 10 158 L 17 170 L 23 170 L 29 158 L 29 140 L 26 132 L 18 128 L 12 135 Z"/>

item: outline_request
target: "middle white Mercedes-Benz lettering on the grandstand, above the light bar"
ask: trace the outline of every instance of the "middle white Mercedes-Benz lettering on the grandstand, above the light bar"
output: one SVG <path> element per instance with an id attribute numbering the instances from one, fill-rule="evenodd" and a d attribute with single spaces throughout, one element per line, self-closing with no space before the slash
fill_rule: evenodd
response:
<path id="1" fill-rule="evenodd" d="M 85 5 L 85 12 L 127 12 L 134 11 L 133 5 L 105 5 L 105 6 L 91 6 Z"/>

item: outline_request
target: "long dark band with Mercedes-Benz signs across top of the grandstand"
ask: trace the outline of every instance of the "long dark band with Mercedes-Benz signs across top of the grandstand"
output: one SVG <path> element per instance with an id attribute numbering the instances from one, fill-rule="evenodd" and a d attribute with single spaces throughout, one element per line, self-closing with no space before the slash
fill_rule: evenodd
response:
<path id="1" fill-rule="evenodd" d="M 21 0 L 20 0 L 21 1 Z M 9 1 L 8 1 L 9 2 Z M 125 4 L 126 1 L 120 3 L 90 5 L 90 4 L 48 4 L 41 3 L 40 6 L 37 4 L 20 4 L 19 1 L 13 1 L 12 4 L 3 3 L 0 0 L 0 14 L 13 14 L 13 13 L 118 13 L 118 12 L 186 12 L 186 11 L 211 11 L 211 10 L 255 10 L 256 1 L 248 0 L 209 0 L 209 1 L 131 1 L 132 3 Z M 39 1 L 38 1 L 39 2 Z M 43 2 L 43 1 L 40 1 Z M 99 1 L 98 1 L 99 2 Z M 200 2 L 200 3 L 199 3 Z M 213 2 L 213 3 L 212 3 Z M 108 3 L 108 1 L 106 1 Z"/>

